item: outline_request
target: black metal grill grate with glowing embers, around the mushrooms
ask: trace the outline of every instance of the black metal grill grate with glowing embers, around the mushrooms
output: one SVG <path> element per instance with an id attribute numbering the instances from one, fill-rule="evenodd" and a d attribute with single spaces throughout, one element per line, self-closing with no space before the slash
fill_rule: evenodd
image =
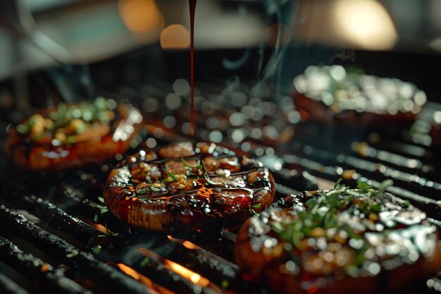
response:
<path id="1" fill-rule="evenodd" d="M 182 111 L 187 109 L 187 94 L 174 110 L 164 99 L 176 92 L 173 85 L 154 85 L 102 94 L 129 99 L 144 110 L 148 125 L 138 138 L 141 147 L 190 138 L 190 112 Z M 240 102 L 254 97 L 256 90 L 266 95 Z M 270 90 L 239 82 L 200 85 L 195 137 L 260 157 L 274 170 L 277 197 L 314 189 L 315 183 L 329 188 L 338 178 L 351 185 L 367 178 L 374 187 L 392 178 L 390 192 L 408 198 L 440 226 L 439 150 L 424 144 L 424 134 L 416 137 L 407 128 L 367 132 L 354 126 L 302 123 L 290 97 L 275 104 L 270 96 Z M 264 111 L 256 113 L 257 109 Z M 436 109 L 437 104 L 426 106 L 420 123 L 430 120 Z M 8 121 L 3 118 L 1 123 L 6 126 Z M 101 202 L 113 164 L 36 175 L 16 169 L 2 155 L 1 293 L 268 293 L 240 277 L 232 260 L 235 233 L 172 232 L 172 237 L 135 231 L 116 220 Z M 441 281 L 430 278 L 411 293 L 440 290 Z"/>

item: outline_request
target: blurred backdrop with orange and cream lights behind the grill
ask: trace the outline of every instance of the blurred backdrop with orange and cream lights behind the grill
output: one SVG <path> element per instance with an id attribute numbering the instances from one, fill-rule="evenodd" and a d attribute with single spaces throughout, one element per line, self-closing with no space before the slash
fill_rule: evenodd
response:
<path id="1" fill-rule="evenodd" d="M 5 0 L 0 5 L 2 81 L 42 70 L 51 75 L 87 66 L 82 69 L 87 72 L 99 65 L 106 70 L 94 85 L 188 78 L 186 0 Z M 285 94 L 306 66 L 345 61 L 439 92 L 440 13 L 436 0 L 199 0 L 197 79 L 242 75 L 278 83 Z"/>

